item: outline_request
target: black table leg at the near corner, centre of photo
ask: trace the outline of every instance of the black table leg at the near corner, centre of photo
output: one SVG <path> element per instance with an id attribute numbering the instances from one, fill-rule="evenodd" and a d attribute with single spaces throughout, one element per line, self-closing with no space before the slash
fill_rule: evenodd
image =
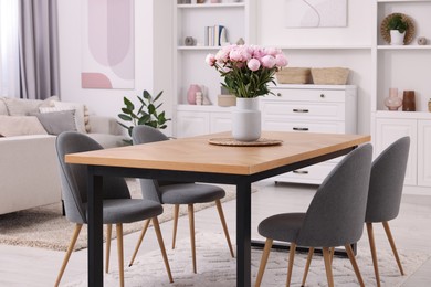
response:
<path id="1" fill-rule="evenodd" d="M 236 185 L 236 286 L 251 286 L 251 183 Z"/>

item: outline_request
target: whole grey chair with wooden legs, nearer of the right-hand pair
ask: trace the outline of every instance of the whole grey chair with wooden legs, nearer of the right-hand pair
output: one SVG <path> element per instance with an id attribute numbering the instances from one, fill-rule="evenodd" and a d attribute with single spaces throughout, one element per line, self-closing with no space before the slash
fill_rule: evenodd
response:
<path id="1" fill-rule="evenodd" d="M 259 224 L 259 233 L 266 242 L 255 286 L 261 286 L 274 240 L 291 243 L 286 286 L 291 284 L 296 246 L 311 247 L 311 251 L 323 247 L 329 286 L 334 286 L 329 248 L 345 246 L 359 284 L 364 286 L 350 244 L 358 242 L 364 231 L 371 157 L 369 144 L 353 150 L 317 189 L 306 213 L 277 214 Z"/>

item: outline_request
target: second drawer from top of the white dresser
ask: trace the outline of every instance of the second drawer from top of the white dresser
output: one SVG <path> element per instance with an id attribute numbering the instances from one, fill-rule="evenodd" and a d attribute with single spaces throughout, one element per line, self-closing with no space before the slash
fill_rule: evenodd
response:
<path id="1" fill-rule="evenodd" d="M 265 102 L 262 103 L 264 118 L 271 119 L 317 119 L 344 120 L 344 103 L 307 103 L 307 102 Z"/>

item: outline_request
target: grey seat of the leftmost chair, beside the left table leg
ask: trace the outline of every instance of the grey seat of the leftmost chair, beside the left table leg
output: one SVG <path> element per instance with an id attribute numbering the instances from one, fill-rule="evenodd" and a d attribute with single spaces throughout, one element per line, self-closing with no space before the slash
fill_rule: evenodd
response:
<path id="1" fill-rule="evenodd" d="M 88 220 L 87 204 L 85 213 Z M 140 199 L 116 199 L 103 201 L 103 224 L 130 223 L 143 221 L 164 212 L 160 203 Z"/>

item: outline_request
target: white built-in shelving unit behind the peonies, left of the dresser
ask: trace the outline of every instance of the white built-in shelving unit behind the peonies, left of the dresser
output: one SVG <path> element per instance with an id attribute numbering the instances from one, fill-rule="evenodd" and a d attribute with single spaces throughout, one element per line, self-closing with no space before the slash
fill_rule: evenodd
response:
<path id="1" fill-rule="evenodd" d="M 210 128 L 214 127 L 211 125 L 212 119 L 224 119 L 228 109 L 217 106 L 221 78 L 218 72 L 204 62 L 207 54 L 216 54 L 220 46 L 203 45 L 204 28 L 223 25 L 227 29 L 229 42 L 236 43 L 242 38 L 246 44 L 255 43 L 255 0 L 240 0 L 233 3 L 221 1 L 221 3 L 175 4 L 175 135 L 186 137 L 211 132 L 214 130 Z M 186 46 L 186 36 L 192 36 L 196 45 Z M 204 96 L 209 98 L 211 106 L 188 105 L 187 91 L 191 84 L 204 87 Z M 230 121 L 228 123 L 228 119 L 224 121 L 218 121 L 221 127 L 216 128 L 217 131 L 228 125 L 230 129 Z"/>

